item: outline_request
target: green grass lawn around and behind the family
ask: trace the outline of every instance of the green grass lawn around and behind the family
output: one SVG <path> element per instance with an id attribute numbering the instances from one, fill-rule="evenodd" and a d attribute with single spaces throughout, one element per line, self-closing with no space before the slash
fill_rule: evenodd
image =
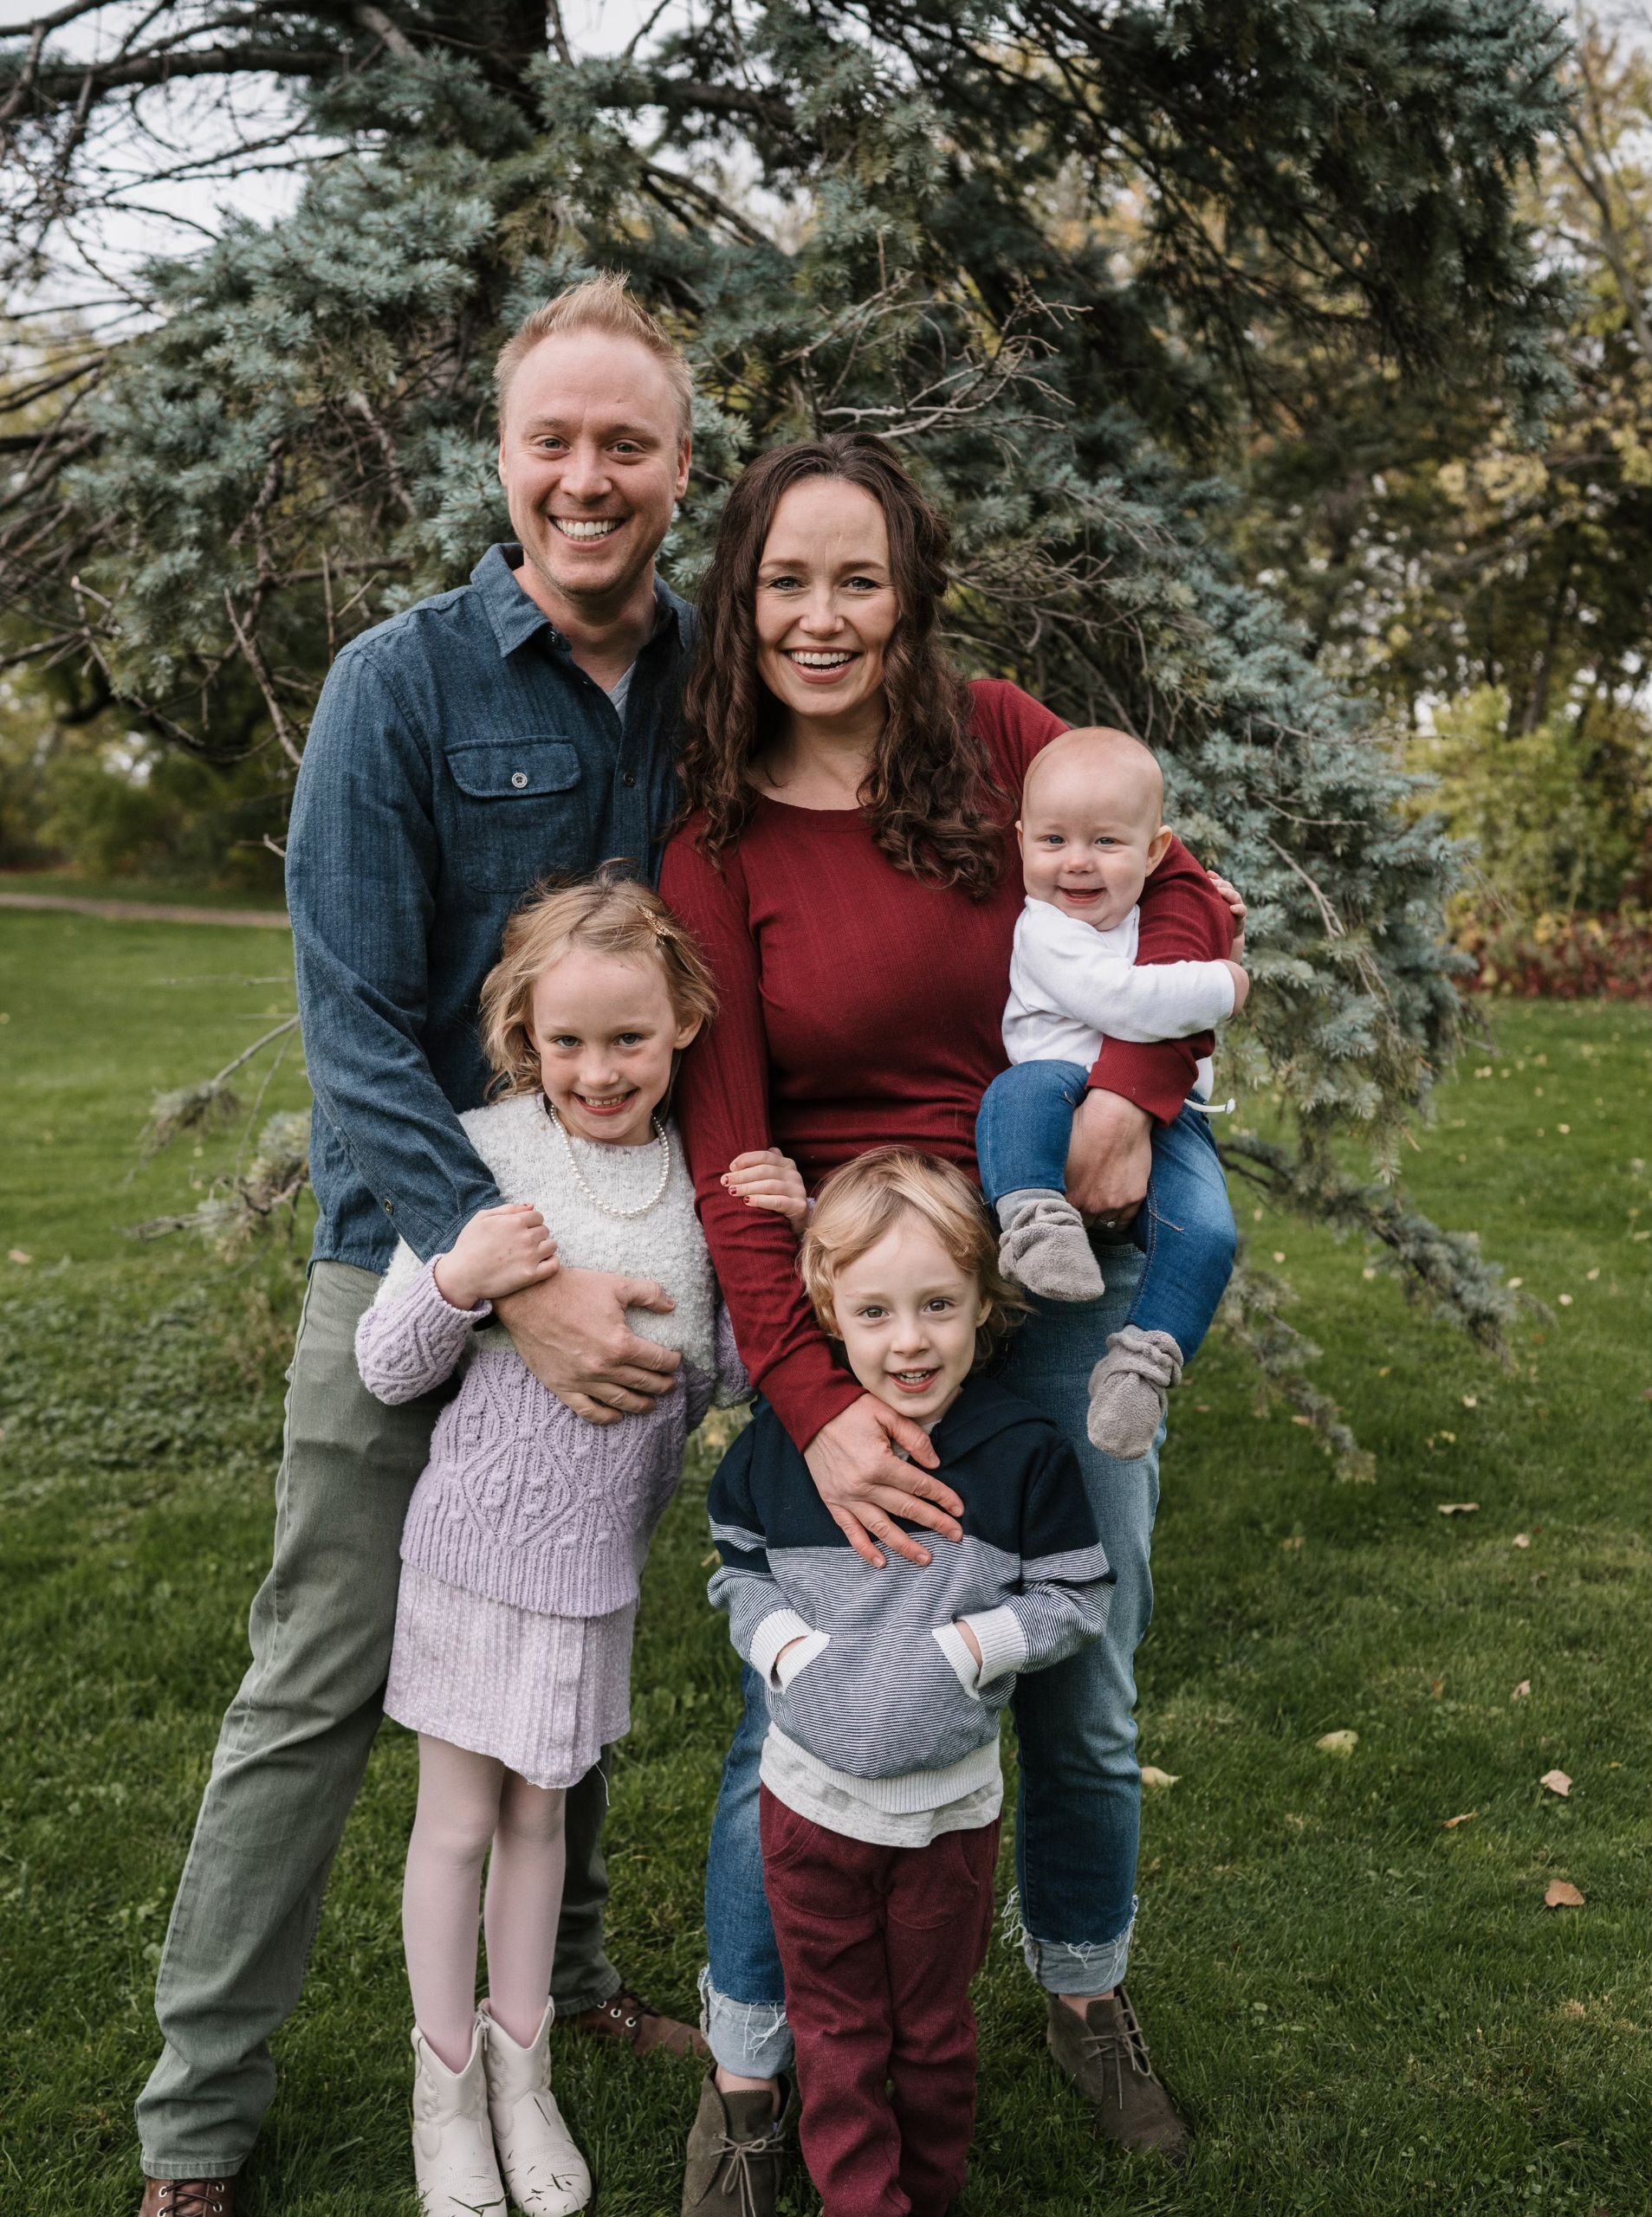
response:
<path id="1" fill-rule="evenodd" d="M 0 916 L 0 1257 L 27 1257 L 0 1259 L 0 2206 L 29 2217 L 135 2208 L 153 1969 L 268 1556 L 295 1315 L 279 1253 L 222 1270 L 120 1230 L 186 1204 L 237 1131 L 151 1164 L 133 1142 L 153 1089 L 290 1007 L 286 960 L 246 931 Z M 1177 1782 L 1146 1800 L 1131 1984 L 1195 2157 L 1102 2175 L 1000 1947 L 969 2217 L 1652 2206 L 1652 1022 L 1519 1007 L 1495 1029 L 1410 1186 L 1550 1306 L 1517 1370 L 1240 1199 L 1377 1479 L 1337 1483 L 1260 1417 L 1220 1344 L 1177 1392 L 1140 1658 L 1142 1756 Z M 295 1062 L 264 1111 L 302 1100 Z M 610 1820 L 614 1953 L 679 2011 L 736 1709 L 703 1492 L 696 1461 L 647 1574 Z M 1326 1731 L 1357 1747 L 1319 1754 Z M 277 2044 L 251 2217 L 412 2210 L 412 1785 L 390 1727 Z M 1581 1909 L 1543 1907 L 1557 1878 Z M 559 2091 L 599 2208 L 670 2217 L 694 2068 L 565 2042 Z"/>

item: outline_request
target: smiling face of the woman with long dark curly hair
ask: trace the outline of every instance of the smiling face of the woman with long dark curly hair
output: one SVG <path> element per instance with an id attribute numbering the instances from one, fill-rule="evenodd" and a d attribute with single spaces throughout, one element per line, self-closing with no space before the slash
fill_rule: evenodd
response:
<path id="1" fill-rule="evenodd" d="M 898 614 L 874 497 L 840 477 L 783 492 L 756 574 L 756 665 L 774 698 L 812 721 L 880 703 Z"/>

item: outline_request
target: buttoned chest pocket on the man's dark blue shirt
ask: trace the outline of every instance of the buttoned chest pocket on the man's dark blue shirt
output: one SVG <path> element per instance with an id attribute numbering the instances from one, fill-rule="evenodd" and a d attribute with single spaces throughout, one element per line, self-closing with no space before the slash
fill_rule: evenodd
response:
<path id="1" fill-rule="evenodd" d="M 486 738 L 448 747 L 452 823 L 446 876 L 455 889 L 528 893 L 537 878 L 601 862 L 590 820 L 592 780 L 565 738 Z"/>

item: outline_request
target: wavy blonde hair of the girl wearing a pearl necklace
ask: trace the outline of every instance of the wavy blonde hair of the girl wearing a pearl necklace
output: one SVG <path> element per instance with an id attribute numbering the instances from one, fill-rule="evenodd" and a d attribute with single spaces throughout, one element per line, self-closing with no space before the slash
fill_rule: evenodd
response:
<path id="1" fill-rule="evenodd" d="M 716 987 L 692 931 L 628 862 L 603 862 L 592 878 L 545 880 L 506 924 L 501 956 L 481 982 L 481 1051 L 494 1073 L 488 1100 L 541 1091 L 534 987 L 572 947 L 656 962 L 679 1024 L 716 1015 Z"/>

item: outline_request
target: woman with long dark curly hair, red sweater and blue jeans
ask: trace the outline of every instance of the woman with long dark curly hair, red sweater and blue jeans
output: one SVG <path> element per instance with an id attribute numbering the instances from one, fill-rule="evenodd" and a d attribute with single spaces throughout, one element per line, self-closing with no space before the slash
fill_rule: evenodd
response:
<path id="1" fill-rule="evenodd" d="M 1013 685 L 965 685 L 949 670 L 936 638 L 945 554 L 945 523 L 876 439 L 807 441 L 752 463 L 701 594 L 681 765 L 692 814 L 661 878 L 718 987 L 721 1015 L 685 1060 L 676 1104 L 736 1339 L 823 1499 L 876 1565 L 883 1550 L 927 1561 L 896 1516 L 945 1545 L 960 1503 L 929 1477 L 927 1437 L 834 1361 L 783 1219 L 747 1208 L 723 1173 L 738 1153 L 781 1146 L 814 1186 L 883 1142 L 976 1171 L 976 1108 L 1005 1064 L 1018 794 L 1062 723 Z M 1191 905 L 1204 898 L 1204 873 L 1173 845 L 1142 896 L 1140 958 L 1191 953 Z M 1093 1082 L 1169 1120 L 1197 1049 L 1104 1042 Z M 1031 1317 L 1007 1370 L 1071 1437 L 1118 1574 L 1109 1636 L 1016 1696 L 1016 1858 L 1053 2053 L 1109 2137 L 1177 2155 L 1186 2128 L 1118 1991 L 1135 1909 L 1131 1656 L 1151 1612 L 1158 1454 L 1113 1463 L 1084 1434 L 1095 1350 L 1140 1270 L 1122 1242 L 1102 1261 L 1107 1297 Z M 772 2208 L 778 2173 L 789 2037 L 763 1900 L 767 1709 L 752 1672 L 745 1692 L 707 1869 L 716 2071 L 690 2142 L 685 2213 L 725 2206 L 732 2164 Z"/>

